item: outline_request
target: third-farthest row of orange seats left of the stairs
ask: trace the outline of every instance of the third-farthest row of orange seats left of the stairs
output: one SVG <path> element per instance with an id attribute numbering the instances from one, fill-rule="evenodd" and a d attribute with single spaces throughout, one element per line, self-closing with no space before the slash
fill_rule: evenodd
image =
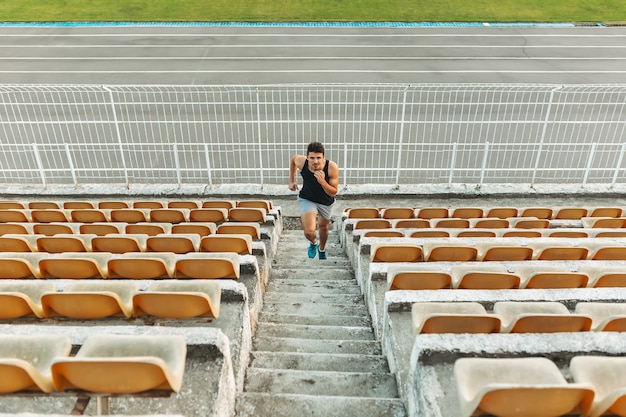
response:
<path id="1" fill-rule="evenodd" d="M 261 238 L 261 227 L 258 222 L 226 222 L 220 225 L 214 222 L 193 223 L 0 223 L 0 236 L 5 235 L 46 235 L 58 234 L 92 234 L 105 236 L 110 234 L 143 234 L 155 236 L 161 234 L 196 234 L 208 236 L 213 234 L 243 233 L 253 239 Z"/>

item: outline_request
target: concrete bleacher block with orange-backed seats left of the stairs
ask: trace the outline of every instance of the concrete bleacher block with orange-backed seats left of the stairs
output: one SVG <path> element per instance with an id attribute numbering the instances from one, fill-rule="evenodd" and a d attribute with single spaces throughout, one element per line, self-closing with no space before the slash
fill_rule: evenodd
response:
<path id="1" fill-rule="evenodd" d="M 48 202 L 43 205 L 21 202 L 23 206 L 21 209 L 8 202 L 0 203 L 0 212 L 9 214 L 4 220 L 14 219 L 20 214 L 24 216 L 21 222 L 0 223 L 2 234 L 0 297 L 3 296 L 1 291 L 4 288 L 7 296 L 12 297 L 12 301 L 20 300 L 22 303 L 20 307 L 24 304 L 33 307 L 31 314 L 18 314 L 18 317 L 0 319 L 0 333 L 63 334 L 70 337 L 73 350 L 79 349 L 91 334 L 179 334 L 185 338 L 188 347 L 181 391 L 168 397 L 160 395 L 155 398 L 151 398 L 149 392 L 144 395 L 114 396 L 110 399 L 112 409 L 124 414 L 137 415 L 150 410 L 151 413 L 164 415 L 232 416 L 237 392 L 243 389 L 252 334 L 262 308 L 271 260 L 276 254 L 282 231 L 280 207 L 267 206 L 270 214 L 266 214 L 265 208 L 254 207 L 261 203 L 267 204 L 267 201 L 249 202 L 252 208 L 246 207 L 245 202 L 238 202 L 243 203 L 241 208 L 230 209 L 233 218 L 229 216 L 229 210 L 222 209 L 226 211 L 224 221 L 210 223 L 194 222 L 192 216 L 189 216 L 193 209 L 176 207 L 175 201 L 156 204 L 153 201 L 141 204 L 136 202 L 141 215 L 137 219 L 141 221 L 135 223 L 115 221 L 116 219 L 110 216 L 113 210 L 124 210 L 123 207 L 99 211 L 94 209 L 100 205 L 97 201 L 84 204 L 84 207 L 84 202 L 80 204 L 81 207 L 69 201 L 56 201 L 54 204 Z M 135 205 L 132 202 L 124 204 L 127 207 Z M 111 202 L 112 206 L 124 204 Z M 205 201 L 205 204 L 211 206 L 208 201 Z M 201 207 L 203 204 L 198 202 L 197 205 Z M 168 209 L 158 206 L 172 206 L 171 213 L 163 213 Z M 76 216 L 81 210 L 84 211 L 82 213 L 84 216 Z M 155 216 L 157 210 L 160 210 L 163 216 L 181 213 L 183 216 L 172 218 L 171 222 L 167 222 L 167 216 Z M 197 211 L 200 213 L 197 214 L 205 215 L 202 210 L 213 208 L 198 208 Z M 35 212 L 40 217 L 33 216 Z M 93 214 L 100 216 L 92 217 L 98 222 L 75 221 L 76 217 L 85 219 L 87 215 Z M 255 221 L 250 214 L 261 216 Z M 220 232 L 220 227 L 227 225 L 232 225 L 235 230 L 244 230 L 244 233 L 252 230 L 255 234 L 244 236 L 226 234 L 231 233 L 230 230 Z M 85 230 L 98 233 L 81 233 Z M 209 236 L 211 242 L 202 234 Z M 114 237 L 118 237 L 119 240 L 112 240 Z M 109 242 L 106 243 L 108 246 L 99 249 L 110 252 L 97 251 L 98 248 L 94 243 L 100 238 L 109 239 Z M 238 242 L 234 242 L 236 238 L 239 238 Z M 129 239 L 131 245 L 121 250 L 122 240 Z M 202 239 L 206 239 L 206 242 Z M 181 247 L 182 249 L 178 250 Z M 15 250 L 26 252 L 14 252 Z M 81 252 L 67 252 L 68 250 Z M 157 252 L 154 252 L 155 250 Z M 229 252 L 222 253 L 220 250 Z M 91 272 L 80 272 L 73 266 L 77 264 L 62 265 L 60 262 L 64 259 L 86 261 L 94 267 Z M 211 263 L 217 259 L 230 262 L 235 268 L 233 273 L 219 272 L 223 268 L 215 262 Z M 52 265 L 51 261 L 56 261 L 57 264 Z M 120 261 L 127 263 L 116 264 Z M 190 264 L 185 269 L 184 265 L 179 265 L 181 262 Z M 194 265 L 193 262 L 204 263 Z M 160 269 L 151 272 L 151 263 L 158 264 Z M 76 275 L 75 279 L 66 279 L 71 275 Z M 209 280 L 205 278 L 219 278 L 210 279 L 211 283 L 219 287 L 219 293 L 211 295 L 192 292 L 204 296 L 205 303 L 213 303 L 211 308 L 214 311 L 210 314 L 190 318 L 156 317 L 138 309 L 138 304 L 133 302 L 135 294 L 148 294 L 152 292 L 151 288 L 159 286 L 178 291 L 191 291 L 194 288 L 193 280 L 202 279 L 208 282 Z M 24 285 L 13 285 L 13 282 L 21 284 L 30 282 L 35 284 L 33 287 L 39 286 L 38 284 L 45 285 L 43 289 L 30 291 Z M 93 285 L 93 289 L 90 289 L 90 282 L 104 285 Z M 113 288 L 116 282 L 132 283 L 133 289 L 122 288 L 121 292 L 116 292 Z M 72 291 L 76 291 L 71 287 L 77 283 L 81 284 L 79 292 L 83 293 L 84 291 L 98 293 L 98 288 L 102 287 L 100 290 L 103 291 L 103 295 L 110 300 L 117 300 L 124 306 L 112 316 L 92 319 L 63 316 L 51 310 L 47 301 L 42 306 L 42 297 L 47 297 L 45 299 L 48 300 L 55 294 L 71 294 Z M 106 290 L 107 285 L 111 286 L 110 290 Z M 187 290 L 178 287 L 185 287 Z M 5 297 L 3 301 L 6 302 L 9 298 Z M 25 302 L 27 298 L 28 303 Z M 78 404 L 79 398 L 84 395 L 85 393 L 80 392 L 62 395 L 59 393 L 3 395 L 0 396 L 0 409 L 11 413 L 38 414 L 56 411 L 69 414 L 74 404 Z M 94 414 L 96 411 L 94 407 L 94 404 L 89 405 L 85 412 Z"/>

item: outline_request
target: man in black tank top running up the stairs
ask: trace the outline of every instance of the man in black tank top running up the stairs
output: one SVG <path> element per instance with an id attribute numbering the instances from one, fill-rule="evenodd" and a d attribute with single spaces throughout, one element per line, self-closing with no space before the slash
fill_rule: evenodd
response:
<path id="1" fill-rule="evenodd" d="M 302 175 L 302 190 L 298 194 L 300 202 L 300 220 L 304 236 L 310 242 L 308 255 L 326 259 L 326 241 L 330 216 L 339 187 L 339 167 L 333 161 L 324 159 L 324 145 L 311 142 L 307 154 L 294 155 L 289 164 L 289 189 L 298 190 L 296 170 Z M 318 217 L 319 215 L 319 217 Z M 320 236 L 319 242 L 315 235 L 315 220 Z"/>

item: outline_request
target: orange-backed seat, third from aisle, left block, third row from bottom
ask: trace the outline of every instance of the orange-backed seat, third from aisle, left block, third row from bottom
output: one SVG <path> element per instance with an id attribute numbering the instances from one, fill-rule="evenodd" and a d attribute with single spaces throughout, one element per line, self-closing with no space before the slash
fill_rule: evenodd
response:
<path id="1" fill-rule="evenodd" d="M 87 279 L 108 278 L 110 253 L 60 253 L 39 261 L 42 278 Z"/>

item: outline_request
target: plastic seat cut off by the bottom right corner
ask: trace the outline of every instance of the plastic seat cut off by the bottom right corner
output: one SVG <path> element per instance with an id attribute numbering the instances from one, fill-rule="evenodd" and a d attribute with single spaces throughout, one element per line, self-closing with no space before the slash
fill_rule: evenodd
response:
<path id="1" fill-rule="evenodd" d="M 575 356 L 569 369 L 574 382 L 590 385 L 595 392 L 587 415 L 626 416 L 626 358 Z"/>

